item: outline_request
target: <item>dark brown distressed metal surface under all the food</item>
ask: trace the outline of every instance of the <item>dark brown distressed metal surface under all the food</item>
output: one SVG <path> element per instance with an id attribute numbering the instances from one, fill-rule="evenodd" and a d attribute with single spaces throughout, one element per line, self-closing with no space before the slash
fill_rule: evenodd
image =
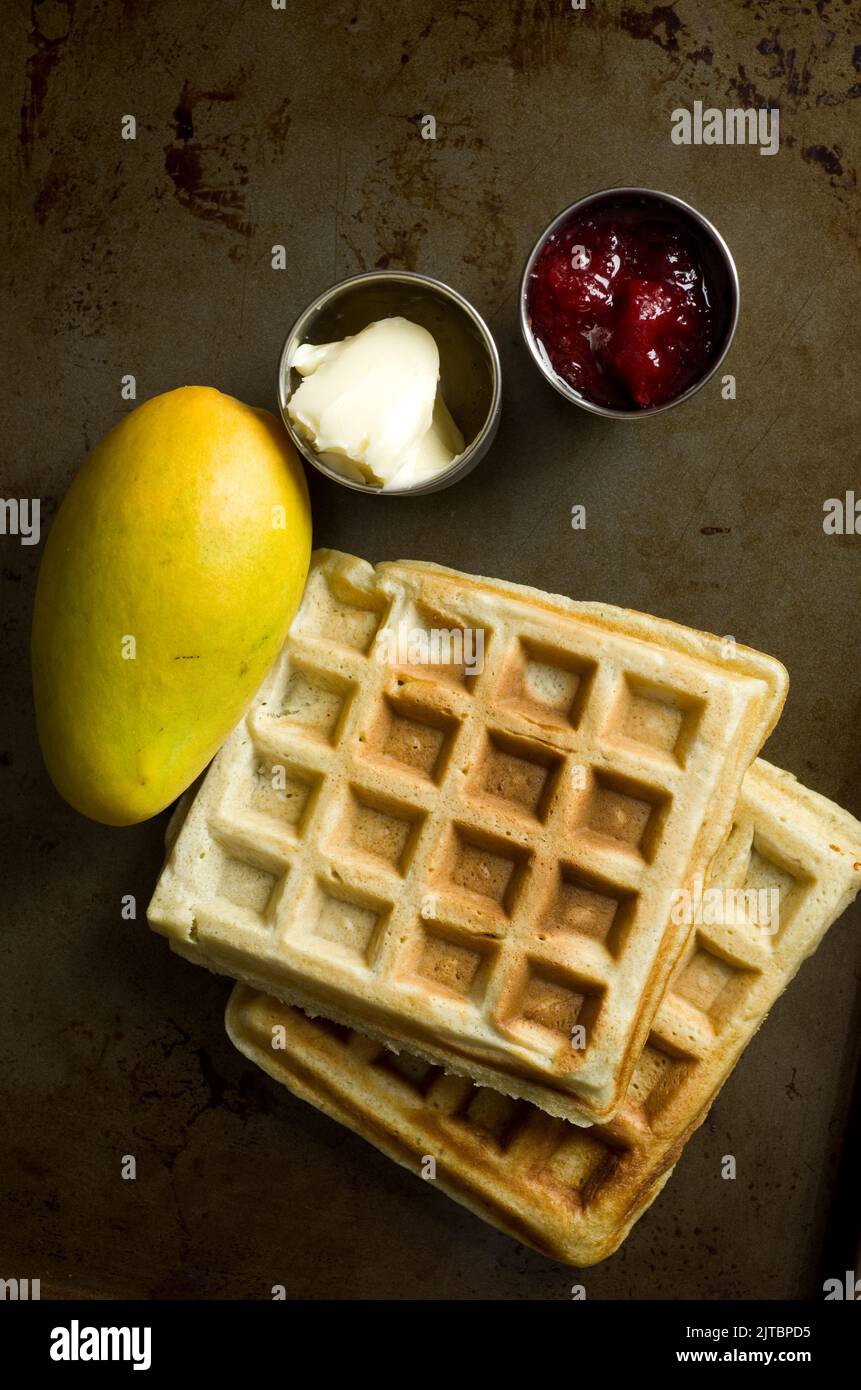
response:
<path id="1" fill-rule="evenodd" d="M 823 500 L 858 482 L 851 19 L 842 0 L 17 6 L 3 496 L 40 496 L 47 524 L 128 409 L 122 374 L 139 399 L 206 382 L 273 406 L 282 336 L 312 293 L 370 265 L 438 275 L 497 334 L 497 445 L 426 499 L 313 478 L 317 541 L 773 652 L 793 688 L 769 756 L 861 813 L 861 538 L 822 531 Z M 694 100 L 779 104 L 779 154 L 672 145 L 670 111 Z M 120 138 L 127 113 L 135 142 Z M 420 138 L 428 113 L 435 142 Z M 734 402 L 715 381 L 680 411 L 615 424 L 531 367 L 520 264 L 559 207 L 615 183 L 677 193 L 727 238 L 743 288 Z M 275 243 L 287 271 L 270 267 Z M 143 913 L 164 827 L 89 824 L 50 788 L 26 655 L 39 548 L 0 545 L 0 1275 L 42 1277 L 46 1294 L 569 1297 L 569 1270 L 280 1094 L 224 1037 L 227 984 L 121 920 L 122 894 Z M 652 1212 L 583 1276 L 590 1297 L 814 1290 L 857 927 L 854 910 L 804 967 Z M 719 1177 L 726 1152 L 736 1182 Z"/>

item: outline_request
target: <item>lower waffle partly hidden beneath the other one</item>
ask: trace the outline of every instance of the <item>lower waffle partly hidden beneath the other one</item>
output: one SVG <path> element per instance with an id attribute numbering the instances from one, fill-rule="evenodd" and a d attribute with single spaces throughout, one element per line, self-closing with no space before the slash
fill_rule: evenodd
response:
<path id="1" fill-rule="evenodd" d="M 433 1156 L 438 1186 L 485 1220 L 591 1265 L 657 1197 L 741 1049 L 860 887 L 861 824 L 758 762 L 709 888 L 773 888 L 779 915 L 765 930 L 697 927 L 606 1126 L 576 1129 L 243 986 L 227 1030 L 275 1080 L 415 1173 Z"/>

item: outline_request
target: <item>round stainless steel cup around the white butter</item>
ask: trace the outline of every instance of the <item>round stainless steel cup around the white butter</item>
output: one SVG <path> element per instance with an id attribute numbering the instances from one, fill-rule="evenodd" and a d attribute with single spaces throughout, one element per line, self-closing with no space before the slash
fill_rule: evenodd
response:
<path id="1" fill-rule="evenodd" d="M 466 448 L 453 463 L 435 478 L 415 488 L 376 488 L 367 482 L 345 478 L 314 453 L 287 413 L 292 392 L 302 381 L 291 366 L 302 343 L 339 342 L 367 328 L 378 318 L 394 316 L 410 318 L 433 334 L 440 349 L 440 389 L 442 399 L 459 425 Z M 278 407 L 287 432 L 303 459 L 332 482 L 353 492 L 376 496 L 419 496 L 440 492 L 470 473 L 490 449 L 499 425 L 501 404 L 499 353 L 491 331 L 455 289 L 442 281 L 412 271 L 380 270 L 353 275 L 317 295 L 299 314 L 287 335 L 278 363 Z"/>

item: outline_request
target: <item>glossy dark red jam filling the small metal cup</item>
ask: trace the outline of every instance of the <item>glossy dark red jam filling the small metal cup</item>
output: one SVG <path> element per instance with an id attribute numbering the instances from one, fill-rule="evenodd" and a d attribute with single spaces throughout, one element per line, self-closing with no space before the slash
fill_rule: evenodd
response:
<path id="1" fill-rule="evenodd" d="M 631 411 L 695 385 L 725 328 L 693 220 L 669 204 L 574 214 L 541 247 L 527 316 L 562 381 L 595 404 Z"/>

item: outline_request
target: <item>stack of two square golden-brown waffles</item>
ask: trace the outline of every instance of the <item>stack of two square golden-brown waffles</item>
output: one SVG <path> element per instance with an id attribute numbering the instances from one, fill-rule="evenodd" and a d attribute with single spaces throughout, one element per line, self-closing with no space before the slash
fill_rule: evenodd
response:
<path id="1" fill-rule="evenodd" d="M 150 922 L 243 981 L 267 1072 L 591 1264 L 861 885 L 861 824 L 754 763 L 784 695 L 732 641 L 319 552 Z"/>

